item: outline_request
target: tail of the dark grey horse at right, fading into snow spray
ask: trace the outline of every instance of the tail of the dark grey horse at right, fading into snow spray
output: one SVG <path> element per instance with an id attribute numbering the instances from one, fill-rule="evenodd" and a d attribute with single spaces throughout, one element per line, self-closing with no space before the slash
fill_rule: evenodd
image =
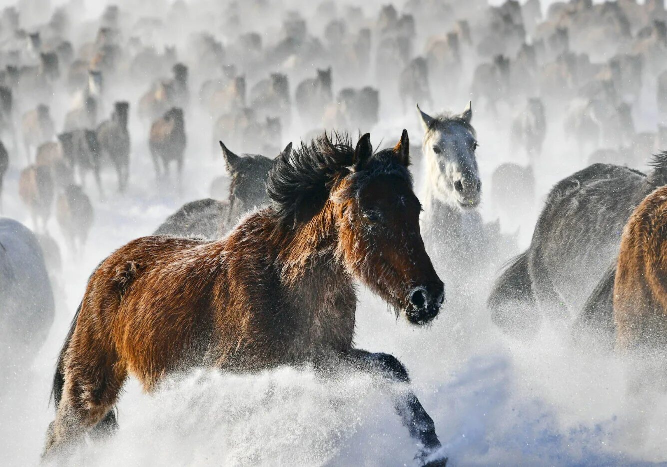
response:
<path id="1" fill-rule="evenodd" d="M 537 302 L 529 267 L 530 249 L 510 261 L 486 300 L 491 320 L 506 332 L 539 328 Z"/>

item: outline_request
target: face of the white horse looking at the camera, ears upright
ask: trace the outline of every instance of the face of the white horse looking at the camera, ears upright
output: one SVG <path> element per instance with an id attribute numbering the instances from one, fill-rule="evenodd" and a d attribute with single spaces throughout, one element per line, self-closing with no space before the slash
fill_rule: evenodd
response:
<path id="1" fill-rule="evenodd" d="M 460 115 L 434 118 L 421 110 L 420 115 L 426 129 L 423 150 L 427 183 L 434 196 L 451 207 L 475 209 L 482 200 L 482 181 L 470 104 Z"/>

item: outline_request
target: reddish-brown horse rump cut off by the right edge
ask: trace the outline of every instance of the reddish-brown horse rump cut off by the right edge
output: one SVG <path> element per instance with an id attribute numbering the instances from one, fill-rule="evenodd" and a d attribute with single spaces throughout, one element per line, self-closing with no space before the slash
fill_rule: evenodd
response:
<path id="1" fill-rule="evenodd" d="M 667 343 L 667 186 L 644 198 L 623 231 L 614 322 L 619 349 Z"/>

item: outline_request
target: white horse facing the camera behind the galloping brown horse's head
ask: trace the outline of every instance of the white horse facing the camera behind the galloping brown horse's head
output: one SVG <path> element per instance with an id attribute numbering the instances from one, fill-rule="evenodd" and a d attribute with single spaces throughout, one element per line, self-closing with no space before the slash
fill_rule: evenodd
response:
<path id="1" fill-rule="evenodd" d="M 495 276 L 510 258 L 514 241 L 498 223 L 485 224 L 479 212 L 482 181 L 476 157 L 477 133 L 472 103 L 460 114 L 432 117 L 419 105 L 424 125 L 422 234 L 438 274 L 454 284 L 454 296 L 478 294 L 480 280 Z M 452 290 L 450 289 L 450 296 Z"/>

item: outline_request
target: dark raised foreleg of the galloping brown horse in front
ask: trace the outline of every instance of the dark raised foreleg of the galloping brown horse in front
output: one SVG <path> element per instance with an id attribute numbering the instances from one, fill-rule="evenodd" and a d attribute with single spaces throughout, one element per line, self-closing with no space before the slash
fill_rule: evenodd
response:
<path id="1" fill-rule="evenodd" d="M 420 446 L 415 459 L 424 467 L 444 467 L 447 464 L 447 458 L 442 454 L 434 456 L 441 446 L 436 434 L 435 424 L 410 389 L 410 377 L 406 367 L 393 355 L 372 354 L 366 352 L 366 350 L 352 350 L 348 358 L 354 366 L 358 366 L 364 371 L 406 386 L 405 390 L 394 396 L 394 409 L 404 426 L 408 428 L 410 436 Z"/>

